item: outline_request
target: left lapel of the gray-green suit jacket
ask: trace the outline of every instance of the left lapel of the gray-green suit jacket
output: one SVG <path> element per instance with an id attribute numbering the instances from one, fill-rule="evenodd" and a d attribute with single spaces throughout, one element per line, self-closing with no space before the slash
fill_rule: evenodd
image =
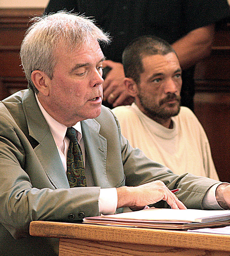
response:
<path id="1" fill-rule="evenodd" d="M 49 126 L 43 117 L 32 90 L 24 95 L 22 106 L 29 135 L 38 141 L 34 148 L 41 165 L 55 188 L 69 188 L 66 173 Z"/>

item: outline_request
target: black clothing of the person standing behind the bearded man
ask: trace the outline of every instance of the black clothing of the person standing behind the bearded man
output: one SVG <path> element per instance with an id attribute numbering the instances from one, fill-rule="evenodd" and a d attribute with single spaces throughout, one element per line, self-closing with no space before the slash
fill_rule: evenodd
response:
<path id="1" fill-rule="evenodd" d="M 174 43 L 194 29 L 230 16 L 227 0 L 50 0 L 46 12 L 64 9 L 95 17 L 96 24 L 112 36 L 112 43 L 102 46 L 103 53 L 116 62 L 122 61 L 124 48 L 138 36 L 156 35 Z M 181 92 L 182 105 L 191 109 L 193 71 L 194 67 L 183 71 Z"/>

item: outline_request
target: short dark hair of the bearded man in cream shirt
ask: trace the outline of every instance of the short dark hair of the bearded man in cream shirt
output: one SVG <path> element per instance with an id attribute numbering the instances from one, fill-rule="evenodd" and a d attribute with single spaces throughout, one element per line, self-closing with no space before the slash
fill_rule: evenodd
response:
<path id="1" fill-rule="evenodd" d="M 142 58 L 150 55 L 165 55 L 176 52 L 165 40 L 156 36 L 141 36 L 129 43 L 122 54 L 122 63 L 125 77 L 132 78 L 140 83 L 140 74 L 144 72 Z"/>

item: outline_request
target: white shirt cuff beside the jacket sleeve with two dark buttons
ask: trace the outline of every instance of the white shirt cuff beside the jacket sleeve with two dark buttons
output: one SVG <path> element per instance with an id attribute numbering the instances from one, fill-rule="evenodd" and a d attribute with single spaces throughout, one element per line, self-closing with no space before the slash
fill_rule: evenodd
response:
<path id="1" fill-rule="evenodd" d="M 117 200 L 116 187 L 101 188 L 98 200 L 99 214 L 114 214 L 117 208 Z"/>

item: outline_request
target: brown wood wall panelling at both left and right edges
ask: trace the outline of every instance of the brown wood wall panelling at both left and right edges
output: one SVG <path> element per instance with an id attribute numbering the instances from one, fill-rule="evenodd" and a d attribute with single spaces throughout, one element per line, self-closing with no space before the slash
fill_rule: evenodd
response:
<path id="1" fill-rule="evenodd" d="M 0 9 L 0 100 L 27 87 L 20 44 L 29 17 L 42 9 Z M 230 182 L 230 18 L 218 24 L 211 56 L 198 63 L 194 112 L 202 123 L 222 181 Z"/>

